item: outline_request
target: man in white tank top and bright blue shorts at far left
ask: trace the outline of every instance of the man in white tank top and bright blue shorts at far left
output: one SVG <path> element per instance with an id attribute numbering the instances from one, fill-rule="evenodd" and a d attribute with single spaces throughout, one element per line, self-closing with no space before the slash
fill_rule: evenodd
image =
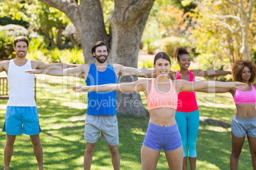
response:
<path id="1" fill-rule="evenodd" d="M 3 128 L 3 131 L 6 132 L 4 170 L 9 169 L 16 135 L 22 133 L 30 136 L 34 154 L 38 160 L 38 169 L 41 170 L 43 169 L 43 149 L 39 140 L 41 129 L 34 98 L 34 74 L 27 74 L 25 70 L 62 69 L 64 65 L 66 67 L 76 67 L 76 65 L 44 63 L 25 58 L 29 49 L 29 42 L 26 37 L 16 37 L 13 48 L 16 51 L 16 57 L 0 62 L 0 72 L 5 71 L 8 75 L 9 86 L 9 100 Z"/>

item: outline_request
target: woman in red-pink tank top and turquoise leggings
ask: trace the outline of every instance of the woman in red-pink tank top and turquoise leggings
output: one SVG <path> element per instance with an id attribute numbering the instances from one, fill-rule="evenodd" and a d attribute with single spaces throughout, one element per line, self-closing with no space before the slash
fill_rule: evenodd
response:
<path id="1" fill-rule="evenodd" d="M 218 76 L 231 74 L 229 71 L 223 70 L 200 70 L 192 69 L 190 67 L 191 58 L 186 48 L 176 48 L 174 57 L 177 58 L 180 70 L 176 72 L 176 79 L 183 79 L 186 81 L 195 81 L 196 76 Z M 171 77 L 175 79 L 173 72 L 170 72 Z M 196 169 L 196 140 L 199 129 L 199 110 L 196 101 L 196 91 L 184 91 L 178 95 L 178 107 L 176 110 L 175 119 L 178 123 L 178 128 L 181 135 L 183 145 L 183 170 L 187 169 L 187 148 L 188 157 L 190 160 L 190 167 L 192 170 Z"/>

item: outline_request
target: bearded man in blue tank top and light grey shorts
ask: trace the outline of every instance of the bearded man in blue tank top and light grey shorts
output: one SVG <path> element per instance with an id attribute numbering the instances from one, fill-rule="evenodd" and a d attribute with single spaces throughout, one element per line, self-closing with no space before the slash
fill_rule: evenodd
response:
<path id="1" fill-rule="evenodd" d="M 28 70 L 34 74 L 48 75 L 73 75 L 85 77 L 87 86 L 117 83 L 118 75 L 148 75 L 153 69 L 135 69 L 120 64 L 110 65 L 106 63 L 109 49 L 102 41 L 98 41 L 92 47 L 92 55 L 95 63 L 83 64 L 70 69 L 52 70 Z M 84 157 L 84 169 L 90 169 L 92 154 L 96 147 L 96 141 L 101 133 L 101 140 L 108 143 L 114 169 L 120 169 L 120 158 L 118 154 L 118 124 L 116 108 L 116 92 L 90 92 L 88 93 L 88 108 L 85 120 L 85 141 L 87 142 Z"/>

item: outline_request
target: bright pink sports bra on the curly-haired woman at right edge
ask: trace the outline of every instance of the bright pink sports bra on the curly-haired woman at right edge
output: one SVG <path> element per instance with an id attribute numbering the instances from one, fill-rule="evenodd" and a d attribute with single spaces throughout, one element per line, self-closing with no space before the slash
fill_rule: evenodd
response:
<path id="1" fill-rule="evenodd" d="M 254 86 L 251 84 L 251 91 L 242 91 L 241 89 L 237 89 L 234 95 L 234 102 L 238 103 L 255 103 L 256 102 L 256 90 Z"/>

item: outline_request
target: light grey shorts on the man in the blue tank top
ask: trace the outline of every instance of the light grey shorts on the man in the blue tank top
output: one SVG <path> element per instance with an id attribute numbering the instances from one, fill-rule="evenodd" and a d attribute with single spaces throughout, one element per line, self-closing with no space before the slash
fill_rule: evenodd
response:
<path id="1" fill-rule="evenodd" d="M 96 143 L 100 133 L 101 140 L 109 145 L 119 143 L 117 115 L 86 115 L 85 141 Z"/>

